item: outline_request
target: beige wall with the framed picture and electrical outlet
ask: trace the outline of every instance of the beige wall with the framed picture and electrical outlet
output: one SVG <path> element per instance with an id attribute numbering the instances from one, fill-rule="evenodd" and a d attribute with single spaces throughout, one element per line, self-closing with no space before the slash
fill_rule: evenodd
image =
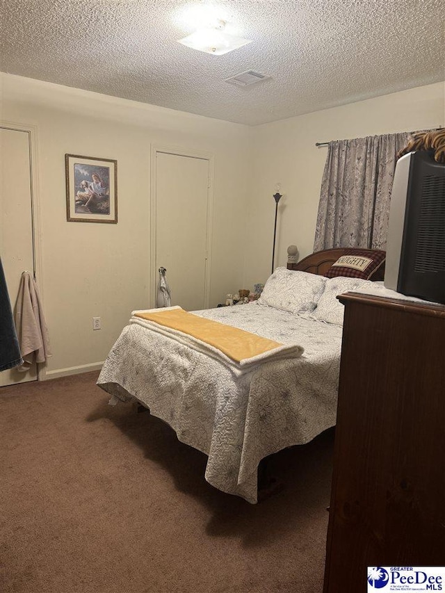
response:
<path id="1" fill-rule="evenodd" d="M 131 311 L 149 306 L 151 145 L 214 155 L 211 306 L 241 286 L 248 127 L 8 74 L 1 119 L 37 130 L 47 378 L 96 368 Z M 117 159 L 118 225 L 66 221 L 66 153 Z M 102 330 L 92 331 L 93 316 Z"/>

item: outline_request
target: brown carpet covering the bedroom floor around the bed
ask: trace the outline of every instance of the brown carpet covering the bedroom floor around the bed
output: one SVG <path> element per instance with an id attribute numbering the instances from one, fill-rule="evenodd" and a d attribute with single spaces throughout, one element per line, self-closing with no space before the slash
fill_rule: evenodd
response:
<path id="1" fill-rule="evenodd" d="M 97 373 L 0 389 L 2 593 L 321 593 L 332 430 L 274 455 L 258 505 Z"/>

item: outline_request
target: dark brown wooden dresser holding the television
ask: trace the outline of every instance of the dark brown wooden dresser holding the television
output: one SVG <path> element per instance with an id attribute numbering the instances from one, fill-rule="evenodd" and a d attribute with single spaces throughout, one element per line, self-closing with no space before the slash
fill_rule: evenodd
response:
<path id="1" fill-rule="evenodd" d="M 323 593 L 445 564 L 445 307 L 347 293 Z"/>

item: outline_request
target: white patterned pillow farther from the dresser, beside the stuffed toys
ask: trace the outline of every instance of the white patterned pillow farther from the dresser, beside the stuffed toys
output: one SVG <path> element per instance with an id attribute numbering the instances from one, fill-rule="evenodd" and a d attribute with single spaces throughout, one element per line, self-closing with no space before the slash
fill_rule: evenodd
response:
<path id="1" fill-rule="evenodd" d="M 323 276 L 277 268 L 264 285 L 258 302 L 294 314 L 311 313 L 326 282 Z"/>

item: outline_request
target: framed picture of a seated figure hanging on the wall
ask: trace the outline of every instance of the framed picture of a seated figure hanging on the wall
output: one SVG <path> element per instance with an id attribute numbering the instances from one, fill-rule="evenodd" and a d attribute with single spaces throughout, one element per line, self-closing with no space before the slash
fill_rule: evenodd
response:
<path id="1" fill-rule="evenodd" d="M 118 222 L 118 161 L 65 154 L 68 222 Z"/>

